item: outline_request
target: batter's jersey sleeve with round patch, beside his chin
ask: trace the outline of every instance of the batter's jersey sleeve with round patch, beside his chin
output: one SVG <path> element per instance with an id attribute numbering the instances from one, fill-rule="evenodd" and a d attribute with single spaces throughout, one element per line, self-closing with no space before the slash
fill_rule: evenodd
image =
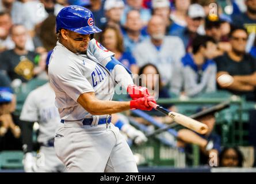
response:
<path id="1" fill-rule="evenodd" d="M 103 47 L 97 40 L 92 39 L 89 42 L 88 49 L 93 56 L 98 60 L 98 62 L 102 62 L 102 60 L 106 59 L 107 57 L 114 56 L 114 53 Z"/>

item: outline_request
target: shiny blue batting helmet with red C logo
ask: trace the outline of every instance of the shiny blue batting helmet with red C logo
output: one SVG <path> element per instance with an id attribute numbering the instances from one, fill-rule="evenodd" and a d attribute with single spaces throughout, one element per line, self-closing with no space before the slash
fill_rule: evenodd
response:
<path id="1" fill-rule="evenodd" d="M 56 17 L 56 33 L 68 29 L 80 34 L 93 34 L 102 30 L 94 25 L 93 13 L 82 6 L 71 5 L 59 11 Z"/>

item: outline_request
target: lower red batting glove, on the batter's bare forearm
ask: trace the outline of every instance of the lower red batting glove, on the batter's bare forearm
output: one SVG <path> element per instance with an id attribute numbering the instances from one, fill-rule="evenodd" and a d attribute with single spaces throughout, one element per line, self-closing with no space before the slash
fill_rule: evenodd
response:
<path id="1" fill-rule="evenodd" d="M 148 104 L 150 101 L 156 104 L 155 98 L 151 96 L 133 99 L 130 102 L 130 109 L 152 110 L 152 107 Z"/>

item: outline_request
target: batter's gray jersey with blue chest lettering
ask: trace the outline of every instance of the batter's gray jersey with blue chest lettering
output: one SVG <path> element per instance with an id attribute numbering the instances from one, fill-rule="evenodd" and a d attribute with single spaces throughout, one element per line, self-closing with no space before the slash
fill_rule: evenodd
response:
<path id="1" fill-rule="evenodd" d="M 101 61 L 114 55 L 96 40 L 91 40 L 87 55 L 69 51 L 59 42 L 49 62 L 49 81 L 55 90 L 55 105 L 60 118 L 66 121 L 92 117 L 77 103 L 80 94 L 94 92 L 101 100 L 111 100 L 114 94 L 114 79 Z"/>

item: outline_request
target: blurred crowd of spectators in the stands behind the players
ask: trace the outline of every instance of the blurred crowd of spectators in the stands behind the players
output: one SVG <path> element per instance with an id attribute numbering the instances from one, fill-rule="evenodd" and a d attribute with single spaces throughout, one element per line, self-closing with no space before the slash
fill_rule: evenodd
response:
<path id="1" fill-rule="evenodd" d="M 93 12 L 95 25 L 102 29 L 94 38 L 133 74 L 159 74 L 140 83 L 150 86 L 156 98 L 193 98 L 226 90 L 256 101 L 256 0 L 0 0 L 0 151 L 21 145 L 25 152 L 32 150 L 24 148 L 28 140 L 20 128 L 29 120 L 13 115 L 13 89 L 34 78 L 47 79 L 48 52 L 58 40 L 55 18 L 68 5 Z M 118 125 L 122 118 L 117 116 Z M 212 114 L 200 121 L 213 130 Z M 141 135 L 127 130 L 123 128 L 129 137 Z M 220 136 L 211 131 L 200 136 L 181 129 L 177 146 L 197 144 L 207 160 L 215 152 L 220 166 L 242 166 L 238 148 L 221 150 Z"/>

